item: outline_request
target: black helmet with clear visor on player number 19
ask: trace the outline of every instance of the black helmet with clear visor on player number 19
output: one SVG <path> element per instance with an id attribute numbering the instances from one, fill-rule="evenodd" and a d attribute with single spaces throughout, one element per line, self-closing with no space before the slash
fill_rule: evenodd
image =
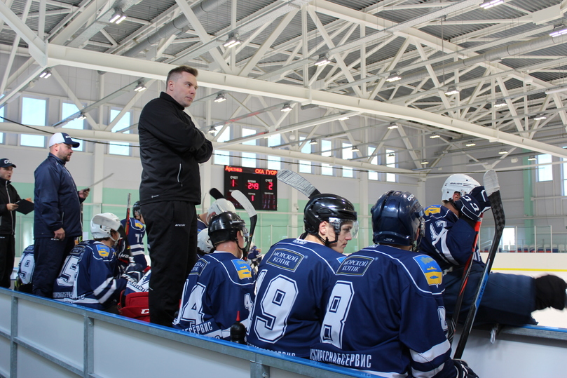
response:
<path id="1" fill-rule="evenodd" d="M 341 234 L 341 227 L 346 222 L 353 223 L 353 238 L 358 231 L 355 206 L 348 199 L 336 194 L 317 194 L 309 199 L 303 210 L 303 223 L 308 234 L 319 236 L 321 222 L 329 222 L 335 231 L 335 241 L 323 241 L 325 245 L 336 243 Z"/>

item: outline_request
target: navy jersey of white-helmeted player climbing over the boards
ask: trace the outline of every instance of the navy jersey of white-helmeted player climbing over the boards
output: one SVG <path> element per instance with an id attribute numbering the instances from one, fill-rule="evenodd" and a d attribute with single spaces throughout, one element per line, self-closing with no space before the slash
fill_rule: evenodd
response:
<path id="1" fill-rule="evenodd" d="M 425 237 L 420 252 L 433 257 L 443 270 L 464 265 L 472 253 L 474 229 L 445 206 L 433 205 L 424 211 Z M 473 259 L 481 262 L 478 245 Z"/>

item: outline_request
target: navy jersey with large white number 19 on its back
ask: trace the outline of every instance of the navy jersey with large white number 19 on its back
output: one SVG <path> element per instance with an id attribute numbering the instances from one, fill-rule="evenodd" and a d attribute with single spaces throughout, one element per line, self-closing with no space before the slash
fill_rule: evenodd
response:
<path id="1" fill-rule="evenodd" d="M 345 257 L 325 245 L 285 239 L 258 267 L 256 301 L 247 342 L 303 358 L 319 340 L 327 291 Z"/>

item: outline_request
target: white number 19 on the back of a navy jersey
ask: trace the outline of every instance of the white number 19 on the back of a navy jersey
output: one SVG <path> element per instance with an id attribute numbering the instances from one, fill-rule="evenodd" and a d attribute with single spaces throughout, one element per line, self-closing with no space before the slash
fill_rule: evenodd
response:
<path id="1" fill-rule="evenodd" d="M 280 275 L 268 283 L 266 293 L 259 303 L 261 315 L 254 320 L 254 332 L 259 339 L 273 343 L 285 335 L 287 318 L 296 298 L 297 285 L 291 278 Z"/>

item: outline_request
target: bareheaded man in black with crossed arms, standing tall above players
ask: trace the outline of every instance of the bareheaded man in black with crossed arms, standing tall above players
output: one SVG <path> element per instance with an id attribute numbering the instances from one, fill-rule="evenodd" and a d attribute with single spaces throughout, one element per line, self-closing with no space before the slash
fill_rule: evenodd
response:
<path id="1" fill-rule="evenodd" d="M 139 199 L 151 245 L 150 321 L 168 327 L 197 261 L 199 163 L 212 155 L 212 143 L 184 112 L 195 99 L 197 74 L 188 66 L 172 69 L 165 92 L 146 104 L 138 123 Z"/>

